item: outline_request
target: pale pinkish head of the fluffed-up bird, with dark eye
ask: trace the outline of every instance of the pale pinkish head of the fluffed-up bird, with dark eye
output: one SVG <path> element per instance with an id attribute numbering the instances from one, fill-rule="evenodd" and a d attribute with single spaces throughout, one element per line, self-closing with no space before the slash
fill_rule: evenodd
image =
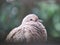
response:
<path id="1" fill-rule="evenodd" d="M 26 23 L 26 22 L 37 22 L 37 21 L 42 22 L 42 20 L 40 20 L 37 15 L 35 15 L 35 14 L 29 14 L 29 15 L 27 15 L 23 19 L 22 23 Z"/>

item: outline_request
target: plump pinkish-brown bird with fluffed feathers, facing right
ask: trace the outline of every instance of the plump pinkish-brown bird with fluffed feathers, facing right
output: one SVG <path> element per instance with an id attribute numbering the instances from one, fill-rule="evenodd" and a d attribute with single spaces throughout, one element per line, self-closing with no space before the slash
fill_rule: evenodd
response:
<path id="1" fill-rule="evenodd" d="M 42 20 L 36 14 L 28 14 L 21 25 L 10 31 L 6 37 L 7 42 L 38 42 L 47 40 L 47 31 Z"/>

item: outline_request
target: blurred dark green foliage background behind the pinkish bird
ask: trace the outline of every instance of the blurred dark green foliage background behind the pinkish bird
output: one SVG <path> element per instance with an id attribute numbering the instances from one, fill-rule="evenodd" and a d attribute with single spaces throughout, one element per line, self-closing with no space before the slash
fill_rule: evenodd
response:
<path id="1" fill-rule="evenodd" d="M 60 0 L 0 0 L 0 41 L 34 13 L 43 20 L 48 41 L 60 41 Z"/>

